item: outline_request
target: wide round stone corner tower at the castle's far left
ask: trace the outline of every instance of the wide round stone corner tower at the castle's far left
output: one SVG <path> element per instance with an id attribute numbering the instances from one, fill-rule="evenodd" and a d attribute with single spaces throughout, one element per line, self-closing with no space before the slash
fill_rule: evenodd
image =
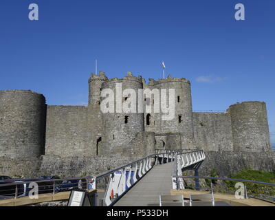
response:
<path id="1" fill-rule="evenodd" d="M 32 91 L 0 91 L 0 156 L 45 153 L 45 97 Z"/>

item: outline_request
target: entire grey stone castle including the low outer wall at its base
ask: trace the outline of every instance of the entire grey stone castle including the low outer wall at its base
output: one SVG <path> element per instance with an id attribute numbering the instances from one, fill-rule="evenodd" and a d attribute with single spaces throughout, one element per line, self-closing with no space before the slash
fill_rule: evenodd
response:
<path id="1" fill-rule="evenodd" d="M 136 94 L 139 89 L 175 89 L 175 117 L 162 120 L 163 114 L 154 111 L 102 113 L 100 94 L 108 88 L 115 91 L 117 84 Z M 142 97 L 144 107 L 155 104 L 154 96 Z M 95 175 L 155 149 L 179 148 L 205 151 L 202 175 L 212 169 L 223 176 L 244 168 L 275 171 L 265 103 L 236 103 L 223 113 L 193 112 L 185 78 L 146 83 L 131 72 L 111 79 L 103 72 L 91 74 L 87 106 L 47 105 L 33 91 L 0 91 L 0 175 Z"/>

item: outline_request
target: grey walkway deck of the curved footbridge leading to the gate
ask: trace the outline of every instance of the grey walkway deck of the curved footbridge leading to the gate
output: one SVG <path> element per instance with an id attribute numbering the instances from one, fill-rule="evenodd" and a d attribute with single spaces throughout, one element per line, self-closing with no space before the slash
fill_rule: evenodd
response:
<path id="1" fill-rule="evenodd" d="M 170 162 L 153 166 L 115 206 L 147 206 L 148 203 L 159 203 L 159 195 L 170 195 L 173 165 Z"/>

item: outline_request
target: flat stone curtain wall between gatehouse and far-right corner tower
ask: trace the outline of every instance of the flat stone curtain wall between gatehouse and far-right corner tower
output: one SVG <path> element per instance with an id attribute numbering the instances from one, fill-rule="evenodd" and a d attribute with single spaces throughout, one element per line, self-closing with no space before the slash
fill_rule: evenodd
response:
<path id="1" fill-rule="evenodd" d="M 203 151 L 233 151 L 229 113 L 193 113 L 197 148 Z"/>

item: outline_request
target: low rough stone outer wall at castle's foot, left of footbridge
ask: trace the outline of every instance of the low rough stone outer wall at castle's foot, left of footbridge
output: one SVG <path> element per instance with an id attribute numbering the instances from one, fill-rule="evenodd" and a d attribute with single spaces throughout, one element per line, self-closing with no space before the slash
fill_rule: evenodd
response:
<path id="1" fill-rule="evenodd" d="M 56 155 L 41 157 L 0 157 L 0 174 L 17 178 L 37 178 L 43 175 L 80 177 L 98 175 L 119 166 L 129 164 L 137 158 L 121 156 L 74 156 Z"/>

